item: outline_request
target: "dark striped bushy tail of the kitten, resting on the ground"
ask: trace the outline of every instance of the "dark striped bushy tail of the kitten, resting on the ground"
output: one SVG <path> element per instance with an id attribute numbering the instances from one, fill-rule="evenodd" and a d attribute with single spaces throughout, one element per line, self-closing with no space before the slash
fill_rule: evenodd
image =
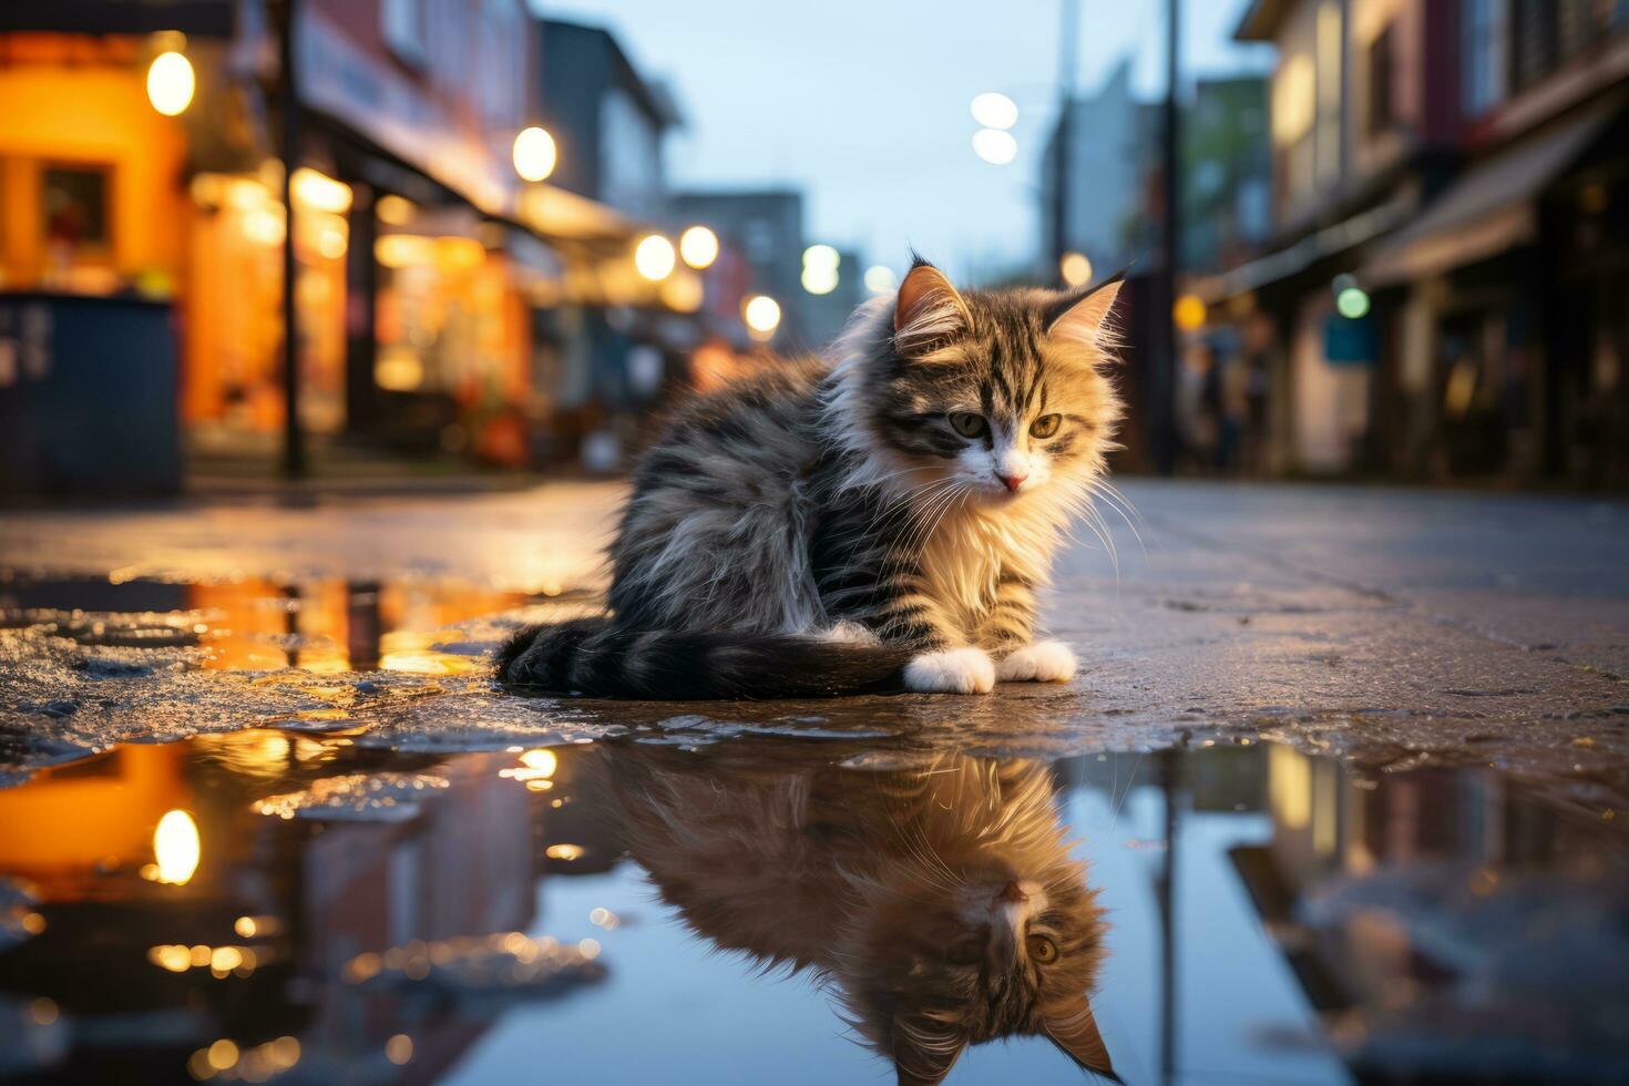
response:
<path id="1" fill-rule="evenodd" d="M 572 619 L 520 630 L 498 650 L 510 685 L 652 700 L 782 698 L 904 689 L 906 648 L 795 633 L 622 630 Z"/>

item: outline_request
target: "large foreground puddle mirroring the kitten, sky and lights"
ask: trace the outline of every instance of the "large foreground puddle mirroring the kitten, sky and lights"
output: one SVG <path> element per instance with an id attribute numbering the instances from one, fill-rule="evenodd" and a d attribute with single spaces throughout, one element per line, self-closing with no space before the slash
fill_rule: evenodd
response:
<path id="1" fill-rule="evenodd" d="M 1127 1083 L 1629 1076 L 1622 827 L 1491 769 L 358 738 L 0 790 L 0 1078 L 878 1081 L 1044 1006 L 948 1081 L 1078 1083 L 1093 975 Z M 1015 915 L 1041 1000 L 968 964 Z"/>

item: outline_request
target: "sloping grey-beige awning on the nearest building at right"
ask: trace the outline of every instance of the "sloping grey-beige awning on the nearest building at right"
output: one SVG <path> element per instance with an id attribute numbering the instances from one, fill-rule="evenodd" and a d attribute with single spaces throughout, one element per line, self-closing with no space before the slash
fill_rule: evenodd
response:
<path id="1" fill-rule="evenodd" d="M 1425 213 L 1386 238 L 1360 277 L 1390 287 L 1499 256 L 1538 233 L 1536 199 L 1611 120 L 1596 109 L 1473 166 Z"/>

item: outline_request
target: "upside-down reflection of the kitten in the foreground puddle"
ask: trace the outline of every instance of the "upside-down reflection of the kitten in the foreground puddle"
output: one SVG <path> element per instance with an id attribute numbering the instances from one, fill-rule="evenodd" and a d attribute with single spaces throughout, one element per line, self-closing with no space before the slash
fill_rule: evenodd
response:
<path id="1" fill-rule="evenodd" d="M 1103 910 L 1044 765 L 788 772 L 622 747 L 609 775 L 626 847 L 684 922 L 766 970 L 816 974 L 899 1083 L 1030 1034 L 1119 1081 L 1088 1000 Z"/>

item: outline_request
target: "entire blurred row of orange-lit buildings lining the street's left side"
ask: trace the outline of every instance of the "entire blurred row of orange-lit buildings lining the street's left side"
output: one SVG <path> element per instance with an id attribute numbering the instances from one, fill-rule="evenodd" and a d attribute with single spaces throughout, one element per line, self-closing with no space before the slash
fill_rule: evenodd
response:
<path id="1" fill-rule="evenodd" d="M 8 485 L 174 488 L 182 435 L 194 466 L 277 462 L 285 10 L 0 11 Z M 298 422 L 331 472 L 575 456 L 573 412 L 652 401 L 700 340 L 697 274 L 634 259 L 671 103 L 603 31 L 552 31 L 521 0 L 298 5 Z"/>

